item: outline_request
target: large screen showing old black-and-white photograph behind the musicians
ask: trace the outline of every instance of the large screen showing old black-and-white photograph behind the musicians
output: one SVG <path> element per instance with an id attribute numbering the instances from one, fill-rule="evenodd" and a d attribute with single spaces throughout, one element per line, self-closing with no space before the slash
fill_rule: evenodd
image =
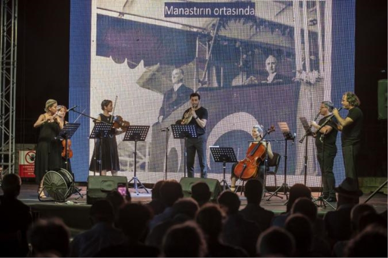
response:
<path id="1" fill-rule="evenodd" d="M 343 92 L 354 87 L 354 15 L 345 14 L 354 14 L 355 1 L 345 2 L 253 0 L 255 15 L 170 18 L 163 0 L 91 0 L 80 4 L 90 8 L 86 14 L 79 1 L 72 1 L 70 106 L 80 105 L 92 117 L 80 119 L 83 129 L 75 136 L 78 151 L 85 153 L 72 161 L 83 169 L 75 171 L 76 178 L 86 181 L 100 170 L 128 179 L 136 171 L 143 183 L 187 175 L 185 149 L 192 139 L 174 134 L 171 125 L 194 122 L 198 114 L 187 118 L 186 111 L 196 92 L 208 118 L 200 136 L 206 140 L 205 153 L 195 154 L 194 177 L 202 169 L 221 181 L 224 162 L 215 161 L 210 147 L 231 147 L 243 160 L 252 129 L 259 125 L 272 152 L 280 155 L 276 182 L 268 176 L 266 185 L 320 186 L 309 124 L 323 118 L 323 101 L 339 108 Z M 88 67 L 82 72 L 80 59 Z M 100 147 L 89 139 L 93 119 L 108 121 L 108 115 L 117 129 Z M 140 135 L 131 126 L 149 129 Z M 110 155 L 101 167 L 95 158 L 100 152 Z M 265 157 L 264 151 L 260 163 Z M 228 183 L 232 165 L 226 162 Z M 342 167 L 338 150 L 336 182 L 344 178 Z"/>

